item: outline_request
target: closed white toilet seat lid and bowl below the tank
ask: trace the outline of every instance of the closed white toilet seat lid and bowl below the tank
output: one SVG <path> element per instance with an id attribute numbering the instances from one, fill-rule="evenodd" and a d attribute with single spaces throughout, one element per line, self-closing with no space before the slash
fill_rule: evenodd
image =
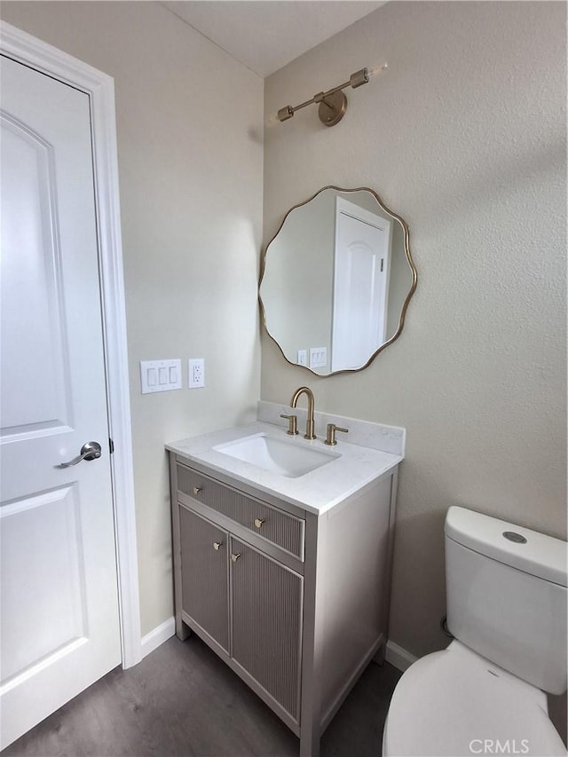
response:
<path id="1" fill-rule="evenodd" d="M 383 757 L 566 755 L 546 695 L 452 642 L 409 667 L 390 702 Z"/>

